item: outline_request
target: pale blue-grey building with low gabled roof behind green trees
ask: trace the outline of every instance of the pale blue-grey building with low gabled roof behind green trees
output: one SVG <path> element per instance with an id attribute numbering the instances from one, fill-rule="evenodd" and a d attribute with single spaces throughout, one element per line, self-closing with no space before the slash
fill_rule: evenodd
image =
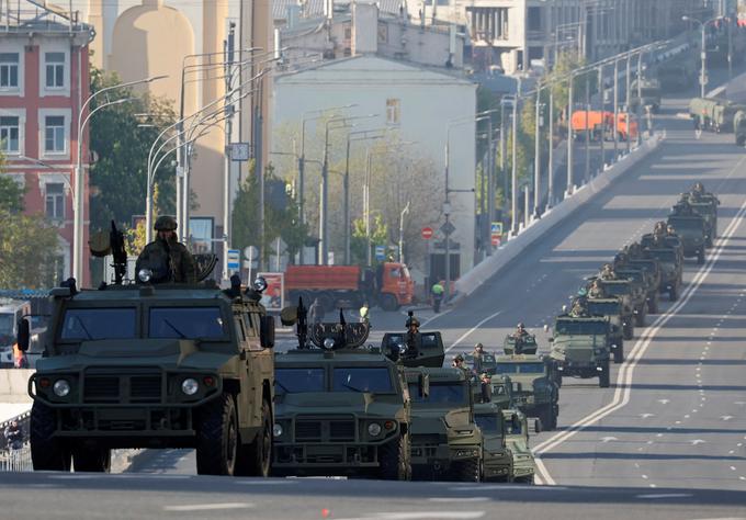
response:
<path id="1" fill-rule="evenodd" d="M 304 22 L 313 26 L 312 21 Z M 457 249 L 451 251 L 452 275 L 470 270 L 474 263 L 475 124 L 468 121 L 476 112 L 476 84 L 463 75 L 461 49 L 463 36 L 450 30 L 420 27 L 406 18 L 378 15 L 375 4 L 355 3 L 352 13 L 320 20 L 318 31 L 295 25 L 281 33 L 281 47 L 302 61 L 299 56 L 321 54 L 318 63 L 298 68 L 290 60 L 289 70 L 274 78 L 272 98 L 273 142 L 289 126 L 299 128 L 309 111 L 354 104 L 355 114 L 380 114 L 365 127 L 395 127 L 403 140 L 416 142 L 412 149 L 436 165 L 444 182 L 447 133 L 450 123 L 465 124 L 450 135 L 450 189 L 455 226 L 452 236 Z M 403 179 L 405 181 L 405 179 Z M 359 190 L 360 186 L 358 186 Z M 310 190 L 313 188 L 306 188 Z M 329 201 L 338 208 L 340 201 Z M 432 201 L 440 208 L 442 201 Z M 432 225 L 438 228 L 440 222 Z M 409 259 L 425 271 L 443 276 L 442 242 L 433 240 L 428 259 Z M 341 251 L 335 251 L 340 258 Z"/>

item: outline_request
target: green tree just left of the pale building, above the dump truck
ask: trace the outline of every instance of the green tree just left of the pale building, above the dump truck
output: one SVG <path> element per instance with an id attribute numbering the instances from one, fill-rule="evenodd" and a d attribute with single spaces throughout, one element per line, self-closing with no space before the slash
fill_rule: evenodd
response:
<path id="1" fill-rule="evenodd" d="M 284 210 L 264 204 L 264 241 L 262 244 L 258 226 L 259 185 L 251 165 L 247 179 L 239 186 L 234 203 L 231 246 L 240 250 L 244 250 L 247 246 L 258 246 L 262 253 L 262 260 L 267 262 L 270 253 L 274 252 L 276 238 L 280 237 L 285 242 L 290 258 L 294 258 L 308 237 L 307 225 L 302 225 L 298 222 L 298 206 L 295 200 L 287 195 Z M 273 169 L 268 167 L 264 174 L 265 185 L 276 179 Z"/>

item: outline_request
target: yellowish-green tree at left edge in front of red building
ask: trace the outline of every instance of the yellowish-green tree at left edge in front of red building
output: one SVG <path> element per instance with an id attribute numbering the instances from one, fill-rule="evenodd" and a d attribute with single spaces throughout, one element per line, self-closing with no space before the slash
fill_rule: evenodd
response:
<path id="1" fill-rule="evenodd" d="M 59 260 L 57 229 L 42 215 L 24 215 L 24 190 L 4 174 L 0 155 L 0 287 L 52 285 Z"/>

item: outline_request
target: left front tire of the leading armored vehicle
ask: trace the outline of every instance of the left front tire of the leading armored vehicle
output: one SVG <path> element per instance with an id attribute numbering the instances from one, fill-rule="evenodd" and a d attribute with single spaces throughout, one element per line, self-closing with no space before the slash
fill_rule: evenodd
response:
<path id="1" fill-rule="evenodd" d="M 69 472 L 70 446 L 54 437 L 57 415 L 48 406 L 35 400 L 31 407 L 29 433 L 31 438 L 31 461 L 34 471 Z"/>

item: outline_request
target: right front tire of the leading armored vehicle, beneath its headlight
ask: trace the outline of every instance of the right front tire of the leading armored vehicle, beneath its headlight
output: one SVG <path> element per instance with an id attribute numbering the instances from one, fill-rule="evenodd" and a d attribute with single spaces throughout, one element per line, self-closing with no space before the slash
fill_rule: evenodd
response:
<path id="1" fill-rule="evenodd" d="M 196 473 L 233 475 L 238 456 L 236 400 L 228 393 L 199 410 L 196 425 Z"/>

